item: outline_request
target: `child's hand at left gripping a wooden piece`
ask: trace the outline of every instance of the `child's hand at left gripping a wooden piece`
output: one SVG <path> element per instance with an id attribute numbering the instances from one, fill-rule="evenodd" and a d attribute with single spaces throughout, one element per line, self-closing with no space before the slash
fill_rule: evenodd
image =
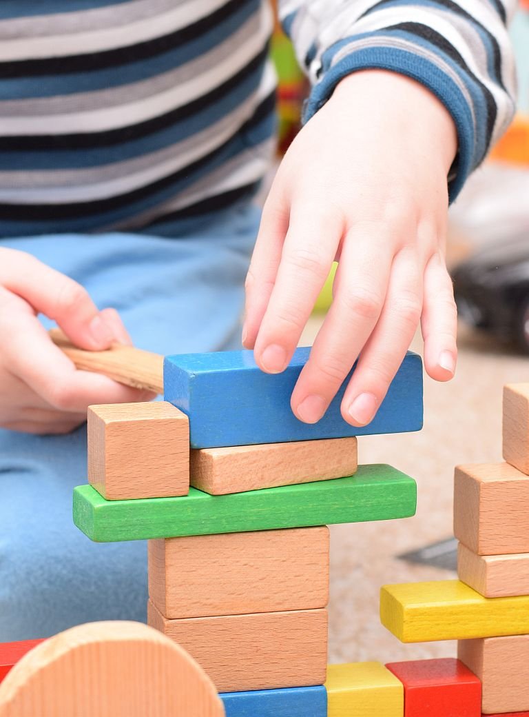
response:
<path id="1" fill-rule="evenodd" d="M 67 433 L 87 407 L 153 394 L 77 371 L 37 319 L 57 321 L 81 348 L 130 343 L 114 309 L 97 311 L 85 289 L 34 257 L 0 248 L 0 426 L 29 433 Z"/>

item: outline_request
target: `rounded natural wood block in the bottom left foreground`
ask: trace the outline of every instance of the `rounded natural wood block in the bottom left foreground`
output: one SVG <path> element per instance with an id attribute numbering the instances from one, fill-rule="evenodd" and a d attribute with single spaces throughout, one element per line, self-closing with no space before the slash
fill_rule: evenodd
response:
<path id="1" fill-rule="evenodd" d="M 199 665 L 138 622 L 92 622 L 34 647 L 0 685 L 0 717 L 223 717 Z"/>

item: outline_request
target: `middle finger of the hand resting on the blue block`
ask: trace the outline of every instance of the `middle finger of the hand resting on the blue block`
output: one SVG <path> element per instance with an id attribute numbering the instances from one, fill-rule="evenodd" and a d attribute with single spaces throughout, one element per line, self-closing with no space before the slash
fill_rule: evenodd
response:
<path id="1" fill-rule="evenodd" d="M 382 227 L 348 232 L 333 304 L 292 393 L 292 410 L 302 421 L 323 416 L 376 325 L 391 270 L 389 236 Z"/>

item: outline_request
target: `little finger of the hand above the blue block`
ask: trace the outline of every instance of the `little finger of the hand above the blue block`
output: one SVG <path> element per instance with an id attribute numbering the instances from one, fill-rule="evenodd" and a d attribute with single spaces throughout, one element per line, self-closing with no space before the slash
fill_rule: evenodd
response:
<path id="1" fill-rule="evenodd" d="M 436 381 L 449 381 L 457 364 L 457 308 L 452 280 L 439 253 L 424 271 L 421 329 L 426 371 Z"/>

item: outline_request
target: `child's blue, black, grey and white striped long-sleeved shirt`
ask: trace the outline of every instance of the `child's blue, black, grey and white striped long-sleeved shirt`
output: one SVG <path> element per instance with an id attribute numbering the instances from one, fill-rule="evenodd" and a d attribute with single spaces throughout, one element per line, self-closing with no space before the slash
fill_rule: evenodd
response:
<path id="1" fill-rule="evenodd" d="M 456 196 L 513 113 L 510 8 L 285 0 L 281 13 L 313 83 L 305 120 L 365 67 L 439 96 L 459 133 Z M 262 0 L 0 1 L 0 237 L 176 235 L 250 196 L 274 147 L 271 28 Z"/>

